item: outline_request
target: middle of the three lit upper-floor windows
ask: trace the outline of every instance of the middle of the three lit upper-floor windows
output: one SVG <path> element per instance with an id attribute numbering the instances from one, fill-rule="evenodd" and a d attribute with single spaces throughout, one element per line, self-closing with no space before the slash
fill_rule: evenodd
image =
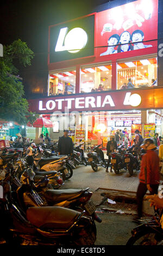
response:
<path id="1" fill-rule="evenodd" d="M 81 68 L 81 93 L 111 90 L 111 65 L 83 66 Z"/>

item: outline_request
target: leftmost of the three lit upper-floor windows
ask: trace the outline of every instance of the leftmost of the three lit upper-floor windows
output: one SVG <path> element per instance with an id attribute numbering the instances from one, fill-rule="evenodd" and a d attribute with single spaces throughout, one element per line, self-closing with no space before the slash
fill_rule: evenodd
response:
<path id="1" fill-rule="evenodd" d="M 76 70 L 53 71 L 49 74 L 49 92 L 51 95 L 76 93 Z"/>

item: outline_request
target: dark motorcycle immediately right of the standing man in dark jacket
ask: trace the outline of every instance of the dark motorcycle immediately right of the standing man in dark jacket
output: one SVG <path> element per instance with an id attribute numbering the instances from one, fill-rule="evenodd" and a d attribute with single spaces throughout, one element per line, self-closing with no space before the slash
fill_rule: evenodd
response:
<path id="1" fill-rule="evenodd" d="M 84 143 L 79 144 L 77 147 L 74 147 L 73 149 L 72 160 L 74 162 L 75 167 L 76 165 L 79 165 L 79 164 L 84 164 L 85 166 L 87 166 L 87 161 L 84 156 L 84 150 L 81 148 L 83 144 Z"/>

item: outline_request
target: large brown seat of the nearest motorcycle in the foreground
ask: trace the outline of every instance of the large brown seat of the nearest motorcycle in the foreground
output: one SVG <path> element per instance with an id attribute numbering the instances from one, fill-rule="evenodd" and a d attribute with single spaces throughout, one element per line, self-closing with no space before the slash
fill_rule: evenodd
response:
<path id="1" fill-rule="evenodd" d="M 80 212 L 59 206 L 30 207 L 27 220 L 37 228 L 67 230 L 77 220 Z"/>

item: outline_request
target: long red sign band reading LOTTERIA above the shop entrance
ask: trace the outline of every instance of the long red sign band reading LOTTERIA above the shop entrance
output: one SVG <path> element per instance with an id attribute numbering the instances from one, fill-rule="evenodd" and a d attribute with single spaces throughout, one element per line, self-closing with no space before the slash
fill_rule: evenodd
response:
<path id="1" fill-rule="evenodd" d="M 71 94 L 51 96 L 42 99 L 30 99 L 29 110 L 39 113 L 72 111 L 107 111 L 126 109 L 162 108 L 163 92 L 161 88 L 135 89 L 131 91 Z"/>

